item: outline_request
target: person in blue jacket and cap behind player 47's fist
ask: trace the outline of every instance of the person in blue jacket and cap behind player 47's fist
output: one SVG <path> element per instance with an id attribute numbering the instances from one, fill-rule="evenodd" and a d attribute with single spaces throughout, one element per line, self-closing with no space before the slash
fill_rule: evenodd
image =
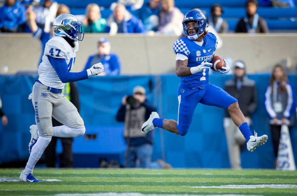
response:
<path id="1" fill-rule="evenodd" d="M 121 72 L 121 62 L 115 53 L 110 53 L 110 42 L 102 37 L 98 40 L 98 53 L 89 56 L 87 63 L 85 64 L 85 70 L 90 68 L 93 64 L 101 62 L 104 66 L 104 73 L 99 76 L 115 76 Z"/>

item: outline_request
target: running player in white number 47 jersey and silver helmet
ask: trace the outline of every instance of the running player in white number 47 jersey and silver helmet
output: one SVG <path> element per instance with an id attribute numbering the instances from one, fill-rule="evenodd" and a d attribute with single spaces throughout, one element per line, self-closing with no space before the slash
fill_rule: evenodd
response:
<path id="1" fill-rule="evenodd" d="M 30 157 L 21 172 L 20 181 L 38 182 L 33 176 L 35 164 L 43 151 L 56 137 L 78 137 L 85 133 L 85 125 L 75 106 L 61 93 L 64 83 L 88 79 L 104 71 L 101 63 L 81 72 L 70 72 L 78 51 L 78 40 L 84 33 L 77 18 L 71 14 L 59 15 L 53 22 L 54 35 L 45 45 L 31 95 L 36 125 L 30 126 Z M 52 126 L 52 116 L 63 126 Z"/>

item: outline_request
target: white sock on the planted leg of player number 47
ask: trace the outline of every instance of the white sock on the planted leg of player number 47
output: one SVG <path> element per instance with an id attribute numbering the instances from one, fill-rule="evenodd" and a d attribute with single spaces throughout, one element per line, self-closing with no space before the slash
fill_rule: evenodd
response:
<path id="1" fill-rule="evenodd" d="M 36 142 L 36 144 L 33 146 L 32 150 L 31 150 L 29 160 L 28 160 L 27 165 L 25 167 L 25 170 L 24 170 L 25 174 L 33 173 L 33 169 L 35 167 L 35 164 L 40 159 L 43 151 L 48 146 L 51 139 L 52 138 L 42 137 L 42 136 L 37 139 L 37 142 Z"/>

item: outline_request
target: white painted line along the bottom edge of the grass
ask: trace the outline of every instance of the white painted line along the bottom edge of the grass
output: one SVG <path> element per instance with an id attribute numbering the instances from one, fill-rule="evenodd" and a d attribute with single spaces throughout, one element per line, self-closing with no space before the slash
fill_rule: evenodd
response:
<path id="1" fill-rule="evenodd" d="M 165 192 L 173 192 L 173 191 L 165 191 Z M 75 193 L 75 194 L 55 194 L 55 196 L 205 196 L 201 194 L 142 194 L 142 193 Z M 207 196 L 247 196 L 243 194 L 212 194 Z M 255 196 L 255 195 L 248 195 L 248 196 Z M 259 195 L 257 195 L 259 196 Z"/>

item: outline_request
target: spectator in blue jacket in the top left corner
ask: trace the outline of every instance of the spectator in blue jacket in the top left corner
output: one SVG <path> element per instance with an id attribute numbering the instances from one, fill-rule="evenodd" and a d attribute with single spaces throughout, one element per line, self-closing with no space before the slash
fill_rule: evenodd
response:
<path id="1" fill-rule="evenodd" d="M 19 1 L 6 0 L 0 8 L 0 31 L 22 32 L 18 27 L 26 22 L 26 9 Z"/>

